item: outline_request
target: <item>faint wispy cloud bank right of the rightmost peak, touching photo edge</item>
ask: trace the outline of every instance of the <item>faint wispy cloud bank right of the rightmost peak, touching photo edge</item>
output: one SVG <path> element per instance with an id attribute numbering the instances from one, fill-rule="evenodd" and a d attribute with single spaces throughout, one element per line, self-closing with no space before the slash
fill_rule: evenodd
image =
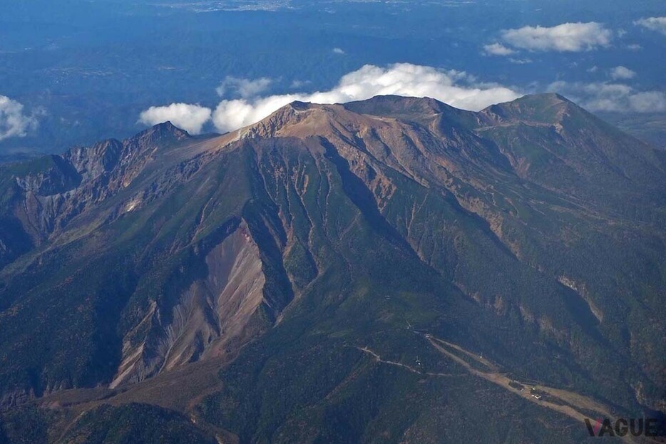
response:
<path id="1" fill-rule="evenodd" d="M 548 91 L 562 93 L 590 111 L 657 113 L 666 111 L 666 93 L 636 91 L 624 83 L 555 82 Z"/>

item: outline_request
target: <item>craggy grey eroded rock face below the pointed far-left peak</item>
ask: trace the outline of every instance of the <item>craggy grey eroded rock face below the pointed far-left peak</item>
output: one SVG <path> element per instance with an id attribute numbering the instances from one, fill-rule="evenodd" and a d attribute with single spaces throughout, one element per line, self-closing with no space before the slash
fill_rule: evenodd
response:
<path id="1" fill-rule="evenodd" d="M 13 175 L 17 192 L 9 202 L 11 211 L 34 244 L 43 244 L 88 207 L 127 188 L 158 148 L 189 138 L 185 131 L 163 123 L 123 142 L 106 140 L 33 160 L 26 174 Z"/>

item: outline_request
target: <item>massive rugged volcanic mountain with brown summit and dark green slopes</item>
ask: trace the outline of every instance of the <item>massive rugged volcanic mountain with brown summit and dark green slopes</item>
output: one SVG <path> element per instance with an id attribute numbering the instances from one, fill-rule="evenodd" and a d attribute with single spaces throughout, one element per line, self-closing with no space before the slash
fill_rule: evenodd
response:
<path id="1" fill-rule="evenodd" d="M 294 102 L 0 165 L 0 440 L 663 418 L 665 227 L 665 154 L 554 94 Z"/>

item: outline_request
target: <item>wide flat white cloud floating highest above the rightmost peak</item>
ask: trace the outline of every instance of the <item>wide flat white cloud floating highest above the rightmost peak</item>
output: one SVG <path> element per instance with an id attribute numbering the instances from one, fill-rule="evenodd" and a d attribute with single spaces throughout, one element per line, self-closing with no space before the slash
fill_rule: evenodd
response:
<path id="1" fill-rule="evenodd" d="M 523 26 L 520 29 L 506 29 L 501 38 L 514 48 L 529 51 L 579 52 L 590 51 L 599 46 L 608 46 L 613 32 L 602 24 L 565 23 L 553 27 Z"/>

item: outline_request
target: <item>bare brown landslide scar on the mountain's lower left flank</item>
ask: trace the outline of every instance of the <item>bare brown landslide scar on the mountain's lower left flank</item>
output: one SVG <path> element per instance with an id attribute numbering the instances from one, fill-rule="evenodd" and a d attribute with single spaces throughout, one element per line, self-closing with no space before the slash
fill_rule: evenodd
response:
<path id="1" fill-rule="evenodd" d="M 205 278 L 183 292 L 168 321 L 155 304 L 123 342 L 123 361 L 111 382 L 133 383 L 188 362 L 225 353 L 260 333 L 257 310 L 266 283 L 257 244 L 241 224 L 205 257 Z M 137 339 L 141 330 L 151 333 Z M 138 344 L 133 342 L 139 341 Z"/>

